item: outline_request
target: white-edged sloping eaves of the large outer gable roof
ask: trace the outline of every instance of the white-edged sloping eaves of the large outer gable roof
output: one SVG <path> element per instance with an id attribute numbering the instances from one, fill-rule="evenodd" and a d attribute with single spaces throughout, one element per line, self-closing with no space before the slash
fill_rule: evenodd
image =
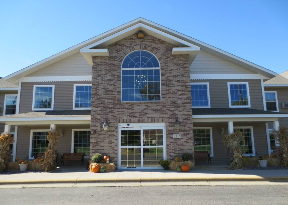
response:
<path id="1" fill-rule="evenodd" d="M 93 43 L 95 43 L 97 41 L 100 41 L 100 40 L 102 40 L 104 38 L 107 38 L 107 37 L 109 37 L 111 35 L 114 35 L 116 33 L 119 34 L 119 32 L 121 32 L 122 30 L 125 30 L 125 29 L 127 29 L 129 27 L 132 27 L 132 26 L 136 25 L 136 24 L 139 24 L 139 28 L 141 27 L 141 25 L 144 25 L 147 28 L 149 27 L 150 30 L 151 30 L 151 28 L 153 28 L 154 30 L 156 29 L 158 31 L 161 31 L 161 32 L 167 34 L 167 35 L 173 36 L 175 38 L 181 39 L 182 41 L 186 41 L 187 43 L 191 43 L 193 45 L 201 47 L 201 50 L 203 50 L 203 51 L 206 51 L 208 53 L 216 55 L 216 56 L 218 56 L 218 57 L 220 57 L 220 58 L 222 58 L 224 60 L 230 61 L 230 62 L 232 62 L 234 64 L 237 64 L 239 66 L 242 66 L 244 68 L 252 70 L 253 72 L 259 73 L 259 74 L 261 74 L 263 76 L 266 76 L 268 78 L 272 78 L 272 77 L 276 76 L 275 72 L 273 72 L 271 70 L 268 70 L 267 68 L 263 68 L 263 67 L 258 66 L 256 64 L 253 64 L 253 63 L 251 63 L 249 61 L 246 61 L 246 60 L 244 60 L 242 58 L 239 58 L 239 57 L 237 57 L 235 55 L 232 55 L 231 53 L 225 52 L 225 51 L 223 51 L 221 49 L 218 49 L 218 48 L 213 47 L 213 46 L 211 46 L 209 44 L 203 43 L 203 42 L 201 42 L 201 41 L 199 41 L 197 39 L 193 39 L 193 38 L 191 38 L 189 36 L 186 36 L 186 35 L 184 35 L 182 33 L 176 32 L 176 31 L 174 31 L 172 29 L 169 29 L 167 27 L 161 26 L 159 24 L 156 24 L 156 23 L 151 22 L 149 20 L 146 20 L 144 18 L 137 18 L 137 19 L 132 20 L 132 21 L 126 23 L 126 24 L 123 24 L 121 26 L 113 28 L 112 30 L 104 32 L 104 33 L 102 33 L 102 34 L 100 34 L 100 35 L 98 35 L 96 37 L 88 39 L 87 41 L 83 41 L 82 43 L 79 43 L 79 44 L 77 44 L 75 46 L 72 46 L 72 47 L 70 47 L 70 48 L 68 48 L 68 49 L 66 49 L 64 51 L 61 51 L 61 52 L 55 54 L 55 55 L 52 55 L 52 56 L 50 56 L 48 58 L 45 58 L 44 60 L 39 61 L 39 62 L 37 62 L 35 64 L 32 64 L 31 66 L 28 66 L 26 68 L 23 68 L 23 69 L 17 71 L 17 72 L 14 72 L 14 73 L 6 76 L 5 79 L 7 81 L 14 82 L 15 80 L 17 80 L 17 79 L 19 79 L 21 77 L 27 76 L 27 75 L 35 72 L 35 71 L 38 71 L 38 70 L 40 70 L 40 69 L 42 69 L 42 68 L 44 68 L 44 67 L 46 67 L 48 65 L 56 63 L 56 62 L 58 62 L 60 60 L 63 60 L 64 58 L 69 57 L 70 55 L 73 55 L 73 54 L 79 52 L 79 49 L 81 49 L 83 47 L 86 47 L 86 46 L 88 46 L 90 44 L 93 44 Z"/>

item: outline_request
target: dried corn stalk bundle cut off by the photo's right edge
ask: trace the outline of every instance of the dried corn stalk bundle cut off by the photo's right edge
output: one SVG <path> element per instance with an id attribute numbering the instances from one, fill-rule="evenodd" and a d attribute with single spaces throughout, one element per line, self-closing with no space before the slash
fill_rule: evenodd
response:
<path id="1" fill-rule="evenodd" d="M 280 126 L 278 131 L 274 130 L 273 137 L 280 145 L 280 166 L 288 166 L 288 128 Z"/>

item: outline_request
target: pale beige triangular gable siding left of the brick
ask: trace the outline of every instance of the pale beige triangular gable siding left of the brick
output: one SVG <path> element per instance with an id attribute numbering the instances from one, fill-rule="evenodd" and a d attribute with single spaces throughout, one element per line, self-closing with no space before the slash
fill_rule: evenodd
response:
<path id="1" fill-rule="evenodd" d="M 28 76 L 75 76 L 92 75 L 92 68 L 81 53 L 42 68 Z"/>

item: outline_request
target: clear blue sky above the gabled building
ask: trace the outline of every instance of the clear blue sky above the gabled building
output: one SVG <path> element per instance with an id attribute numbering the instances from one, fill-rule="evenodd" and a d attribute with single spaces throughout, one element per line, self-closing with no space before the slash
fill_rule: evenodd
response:
<path id="1" fill-rule="evenodd" d="M 1 1 L 4 77 L 138 17 L 281 73 L 288 1 Z"/>

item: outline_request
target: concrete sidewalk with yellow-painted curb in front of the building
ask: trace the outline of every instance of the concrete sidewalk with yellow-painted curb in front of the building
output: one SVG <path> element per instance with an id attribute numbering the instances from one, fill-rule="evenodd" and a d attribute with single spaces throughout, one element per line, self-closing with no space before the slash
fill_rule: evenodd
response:
<path id="1" fill-rule="evenodd" d="M 53 173 L 0 174 L 0 185 L 52 183 L 151 183 L 151 182 L 288 182 L 288 170 L 227 170 L 224 167 L 196 167 L 187 173 L 164 170 L 128 170 L 91 173 L 83 167 L 63 167 Z"/>

